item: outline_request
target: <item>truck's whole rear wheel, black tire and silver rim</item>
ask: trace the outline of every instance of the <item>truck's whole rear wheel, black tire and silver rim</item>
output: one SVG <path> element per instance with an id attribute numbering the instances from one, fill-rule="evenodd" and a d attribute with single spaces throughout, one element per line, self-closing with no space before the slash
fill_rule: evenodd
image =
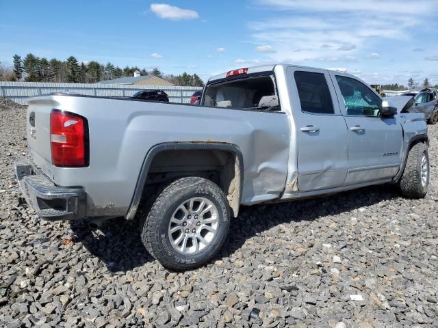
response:
<path id="1" fill-rule="evenodd" d="M 180 178 L 142 213 L 144 247 L 163 267 L 199 267 L 222 247 L 230 226 L 227 198 L 218 185 L 198 177 Z"/>

